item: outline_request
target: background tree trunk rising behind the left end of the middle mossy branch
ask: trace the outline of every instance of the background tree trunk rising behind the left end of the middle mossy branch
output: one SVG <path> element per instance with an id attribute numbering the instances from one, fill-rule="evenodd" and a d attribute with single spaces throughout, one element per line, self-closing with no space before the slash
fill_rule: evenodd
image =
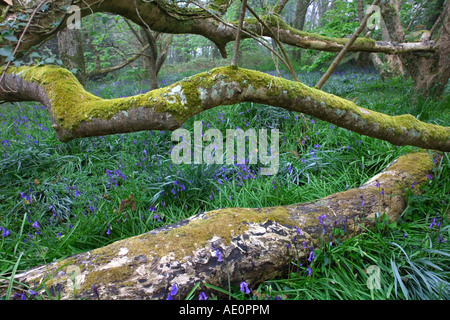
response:
<path id="1" fill-rule="evenodd" d="M 58 49 L 64 67 L 68 70 L 76 69 L 76 78 L 85 86 L 87 76 L 80 30 L 65 28 L 59 31 Z"/>

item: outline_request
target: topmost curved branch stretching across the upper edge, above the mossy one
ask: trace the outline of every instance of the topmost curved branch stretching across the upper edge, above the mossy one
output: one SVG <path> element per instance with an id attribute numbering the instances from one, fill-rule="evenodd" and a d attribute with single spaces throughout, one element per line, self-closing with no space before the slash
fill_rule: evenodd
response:
<path id="1" fill-rule="evenodd" d="M 231 2 L 232 0 L 224 2 L 226 4 L 222 7 L 227 7 Z M 28 5 L 31 6 L 32 3 L 33 2 L 29 2 Z M 57 0 L 52 2 L 52 7 L 62 8 L 64 5 L 70 3 L 71 1 L 68 0 Z M 140 1 L 136 3 L 136 7 L 134 6 L 133 1 L 114 0 L 84 0 L 77 3 L 77 5 L 81 8 L 81 16 L 90 15 L 95 12 L 116 13 L 130 19 L 138 25 L 145 26 L 143 25 L 144 21 L 153 31 L 172 34 L 190 33 L 204 36 L 221 49 L 225 48 L 227 43 L 234 41 L 236 38 L 234 27 L 230 27 L 228 24 L 217 21 L 217 19 L 213 17 L 213 13 L 201 8 L 181 8 L 176 4 L 171 4 L 162 0 L 151 2 Z M 210 5 L 209 8 L 212 8 L 212 6 Z M 5 19 L 13 21 L 17 18 L 19 12 L 25 12 L 29 9 L 30 8 L 27 7 L 19 7 L 18 4 L 15 4 L 12 9 L 8 11 Z M 220 13 L 221 11 L 219 10 L 216 11 L 216 13 L 217 12 Z M 68 19 L 66 12 L 64 10 L 54 10 L 53 13 L 54 14 L 49 15 L 44 12 L 37 12 L 33 19 L 34 24 L 33 26 L 30 26 L 30 30 L 26 33 L 16 58 L 20 58 L 21 55 L 25 54 L 26 51 L 33 46 L 48 39 L 49 32 L 58 31 L 53 30 L 53 28 L 50 29 L 48 26 L 59 25 L 59 29 L 65 27 L 65 21 Z M 279 40 L 284 44 L 330 52 L 341 51 L 349 40 L 347 38 L 324 37 L 296 30 L 284 23 L 276 14 L 271 14 L 263 18 L 273 30 L 270 31 L 263 27 L 255 19 L 246 19 L 243 30 L 253 31 L 256 34 L 267 37 L 271 37 L 273 33 L 276 33 Z M 0 31 L 2 28 L 8 27 L 6 25 L 0 27 Z M 20 30 L 17 32 L 19 33 Z M 242 38 L 247 37 L 249 37 L 249 35 L 243 32 Z M 355 41 L 349 51 L 383 52 L 389 54 L 421 51 L 433 52 L 435 51 L 435 45 L 433 41 L 390 43 L 360 38 Z M 221 52 L 222 55 L 226 54 L 225 50 L 221 50 Z M 2 61 L 0 61 L 0 64 L 3 64 Z"/>

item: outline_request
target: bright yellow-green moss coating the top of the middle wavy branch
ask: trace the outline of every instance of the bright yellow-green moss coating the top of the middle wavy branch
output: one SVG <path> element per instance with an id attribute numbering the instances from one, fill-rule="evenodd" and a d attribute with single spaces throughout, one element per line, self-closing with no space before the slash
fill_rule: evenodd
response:
<path id="1" fill-rule="evenodd" d="M 41 85 L 51 100 L 51 111 L 56 124 L 67 130 L 73 130 L 83 121 L 91 121 L 94 118 L 108 120 L 119 112 L 126 114 L 128 110 L 138 107 L 169 113 L 181 125 L 187 119 L 204 111 L 203 100 L 208 89 L 212 98 L 230 104 L 241 101 L 234 98 L 236 89 L 248 89 L 253 92 L 262 90 L 264 92 L 262 95 L 266 95 L 269 100 L 285 95 L 290 99 L 304 99 L 321 104 L 322 107 L 330 109 L 330 121 L 349 114 L 355 120 L 361 119 L 361 126 L 365 124 L 378 126 L 397 135 L 407 132 L 408 136 L 420 136 L 425 141 L 433 139 L 442 142 L 446 142 L 450 136 L 450 128 L 424 123 L 411 115 L 391 117 L 364 109 L 351 101 L 310 88 L 300 82 L 236 67 L 216 68 L 165 88 L 110 100 L 86 92 L 69 71 L 56 66 L 11 67 L 8 72 Z M 297 107 L 293 104 L 292 108 L 305 112 L 303 104 Z"/>

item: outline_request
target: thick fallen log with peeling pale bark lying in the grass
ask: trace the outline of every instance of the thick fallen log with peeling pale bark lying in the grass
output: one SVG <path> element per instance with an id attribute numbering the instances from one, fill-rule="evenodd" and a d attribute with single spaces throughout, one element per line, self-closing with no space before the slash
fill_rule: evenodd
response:
<path id="1" fill-rule="evenodd" d="M 181 299 L 198 283 L 228 288 L 245 281 L 254 288 L 285 276 L 292 262 L 307 265 L 320 241 L 334 243 L 334 228 L 349 238 L 377 214 L 395 220 L 406 208 L 405 189 L 417 190 L 431 170 L 429 154 L 407 154 L 359 188 L 302 204 L 198 214 L 18 274 L 15 288 L 22 283 L 45 297 L 45 285 L 61 299 L 104 300 L 166 299 L 173 284 Z"/>

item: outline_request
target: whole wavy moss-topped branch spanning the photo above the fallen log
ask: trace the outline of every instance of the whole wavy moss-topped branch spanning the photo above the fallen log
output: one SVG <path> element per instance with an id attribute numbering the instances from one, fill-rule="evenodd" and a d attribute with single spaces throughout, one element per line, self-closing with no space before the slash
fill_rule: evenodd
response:
<path id="1" fill-rule="evenodd" d="M 0 85 L 10 88 L 0 91 L 1 100 L 43 103 L 61 141 L 175 130 L 204 110 L 255 102 L 299 111 L 394 145 L 450 151 L 450 127 L 371 111 L 302 83 L 242 68 L 217 68 L 145 94 L 110 100 L 86 92 L 69 71 L 55 66 L 11 67 Z"/>

